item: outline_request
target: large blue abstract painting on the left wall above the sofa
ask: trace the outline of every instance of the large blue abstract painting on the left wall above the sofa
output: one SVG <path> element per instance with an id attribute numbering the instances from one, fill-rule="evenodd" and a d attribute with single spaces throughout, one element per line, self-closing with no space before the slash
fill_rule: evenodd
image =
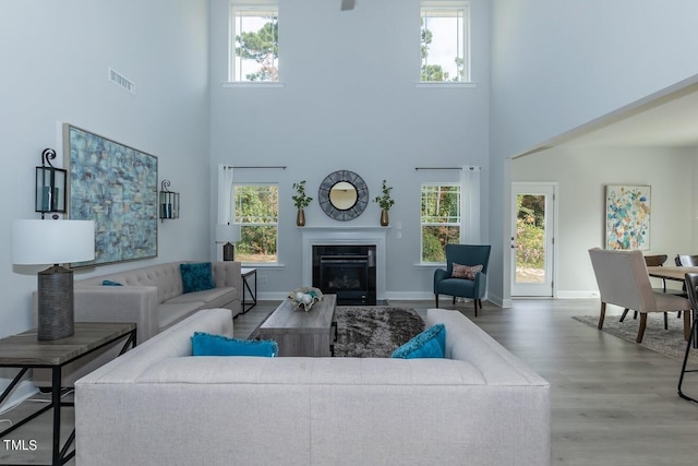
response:
<path id="1" fill-rule="evenodd" d="M 157 157 L 63 124 L 68 216 L 95 220 L 95 259 L 71 267 L 157 256 Z"/>

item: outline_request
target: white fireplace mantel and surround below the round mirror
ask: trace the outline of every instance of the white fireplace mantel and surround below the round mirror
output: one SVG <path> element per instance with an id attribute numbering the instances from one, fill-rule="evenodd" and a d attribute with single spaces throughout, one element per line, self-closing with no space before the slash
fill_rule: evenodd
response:
<path id="1" fill-rule="evenodd" d="M 299 227 L 302 248 L 303 284 L 313 283 L 313 246 L 318 244 L 375 244 L 376 299 L 385 299 L 385 246 L 390 227 Z"/>

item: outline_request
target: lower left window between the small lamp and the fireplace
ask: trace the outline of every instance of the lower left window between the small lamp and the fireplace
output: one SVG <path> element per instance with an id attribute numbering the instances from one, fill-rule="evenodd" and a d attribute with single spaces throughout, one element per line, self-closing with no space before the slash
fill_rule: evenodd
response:
<path id="1" fill-rule="evenodd" d="M 277 262 L 279 190 L 276 184 L 234 184 L 236 224 L 241 238 L 236 259 L 244 263 Z"/>

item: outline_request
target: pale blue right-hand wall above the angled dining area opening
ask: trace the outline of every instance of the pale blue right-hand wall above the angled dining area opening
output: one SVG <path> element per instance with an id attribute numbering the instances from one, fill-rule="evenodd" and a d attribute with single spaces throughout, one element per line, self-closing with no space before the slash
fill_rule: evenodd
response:
<path id="1" fill-rule="evenodd" d="M 698 74 L 698 2 L 494 0 L 490 292 L 507 300 L 507 157 Z"/>

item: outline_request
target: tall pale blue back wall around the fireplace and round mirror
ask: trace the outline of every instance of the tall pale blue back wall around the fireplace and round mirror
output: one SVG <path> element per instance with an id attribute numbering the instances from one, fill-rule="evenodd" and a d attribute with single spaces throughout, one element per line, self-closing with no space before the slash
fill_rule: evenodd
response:
<path id="1" fill-rule="evenodd" d="M 371 0 L 340 12 L 339 1 L 279 2 L 282 88 L 230 88 L 227 80 L 228 1 L 212 0 L 212 179 L 217 164 L 287 165 L 287 170 L 238 170 L 236 181 L 279 183 L 279 261 L 260 272 L 262 296 L 301 285 L 300 234 L 291 184 L 306 180 L 315 200 L 306 225 L 378 225 L 370 203 L 359 218 L 338 223 L 317 204 L 317 188 L 332 171 L 349 169 L 380 193 L 394 187 L 387 241 L 389 297 L 431 297 L 433 268 L 419 262 L 420 183 L 457 174 L 416 172 L 417 166 L 483 167 L 488 183 L 489 4 L 472 1 L 473 88 L 418 88 L 419 1 Z M 214 183 L 215 184 L 215 183 Z M 212 218 L 216 190 L 212 186 Z M 482 196 L 483 238 L 488 201 Z M 397 225 L 401 224 L 401 239 Z"/>

